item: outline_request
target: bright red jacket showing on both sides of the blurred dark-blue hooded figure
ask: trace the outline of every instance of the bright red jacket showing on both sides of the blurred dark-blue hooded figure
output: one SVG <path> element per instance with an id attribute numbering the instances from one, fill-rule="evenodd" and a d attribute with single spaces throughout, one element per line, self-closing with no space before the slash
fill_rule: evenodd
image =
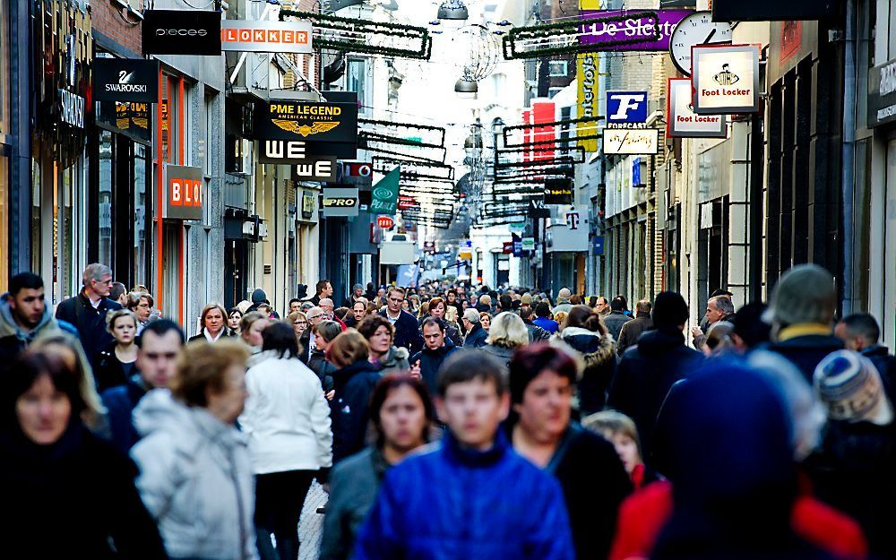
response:
<path id="1" fill-rule="evenodd" d="M 616 538 L 609 560 L 649 558 L 659 531 L 672 516 L 672 484 L 654 482 L 619 506 Z M 797 536 L 831 556 L 843 560 L 866 560 L 868 543 L 858 523 L 809 495 L 800 495 L 790 513 L 790 526 Z"/>

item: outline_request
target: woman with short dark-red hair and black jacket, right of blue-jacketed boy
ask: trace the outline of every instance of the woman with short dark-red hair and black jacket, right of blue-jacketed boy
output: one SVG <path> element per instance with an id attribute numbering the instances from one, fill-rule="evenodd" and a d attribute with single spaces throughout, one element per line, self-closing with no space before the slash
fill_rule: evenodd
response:
<path id="1" fill-rule="evenodd" d="M 575 361 L 561 349 L 542 342 L 517 350 L 505 426 L 513 449 L 560 481 L 575 556 L 606 558 L 632 484 L 613 446 L 571 420 L 576 377 Z"/>

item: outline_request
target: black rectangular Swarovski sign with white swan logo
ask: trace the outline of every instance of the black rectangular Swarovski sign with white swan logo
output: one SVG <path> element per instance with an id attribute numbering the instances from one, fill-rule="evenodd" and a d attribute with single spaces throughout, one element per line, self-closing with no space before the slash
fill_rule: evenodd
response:
<path id="1" fill-rule="evenodd" d="M 159 62 L 142 58 L 94 59 L 93 99 L 143 103 L 158 100 Z"/>

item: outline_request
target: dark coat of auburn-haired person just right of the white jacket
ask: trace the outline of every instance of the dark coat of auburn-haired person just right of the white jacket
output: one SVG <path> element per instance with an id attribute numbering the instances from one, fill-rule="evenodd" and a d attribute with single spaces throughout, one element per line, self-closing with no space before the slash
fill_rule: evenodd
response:
<path id="1" fill-rule="evenodd" d="M 365 360 L 333 373 L 333 464 L 364 449 L 370 421 L 370 393 L 380 372 Z"/>

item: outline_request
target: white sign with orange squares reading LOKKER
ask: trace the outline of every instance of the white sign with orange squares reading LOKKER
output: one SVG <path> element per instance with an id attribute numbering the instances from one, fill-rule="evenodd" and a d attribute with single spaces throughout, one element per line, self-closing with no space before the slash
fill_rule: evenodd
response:
<path id="1" fill-rule="evenodd" d="M 221 49 L 310 55 L 314 52 L 311 33 L 311 23 L 301 20 L 224 20 L 221 22 Z"/>

